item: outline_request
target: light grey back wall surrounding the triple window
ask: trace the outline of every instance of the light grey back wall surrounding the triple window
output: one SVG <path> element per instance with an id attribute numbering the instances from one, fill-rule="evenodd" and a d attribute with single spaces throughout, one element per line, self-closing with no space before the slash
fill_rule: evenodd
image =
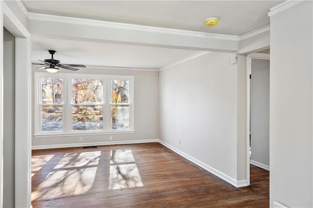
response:
<path id="1" fill-rule="evenodd" d="M 36 66 L 33 66 L 36 68 Z M 33 70 L 34 71 L 34 70 Z M 42 70 L 37 70 L 42 71 Z M 63 72 L 69 72 L 64 70 Z M 85 68 L 77 73 L 90 74 L 116 74 L 134 75 L 134 133 L 102 134 L 83 136 L 61 136 L 61 137 L 33 137 L 33 148 L 64 147 L 64 146 L 86 146 L 100 144 L 118 144 L 128 142 L 144 142 L 158 139 L 158 77 L 156 71 L 143 70 L 121 70 L 103 68 Z M 33 77 L 34 81 L 34 77 Z M 35 86 L 35 83 L 33 84 Z M 34 112 L 34 109 L 33 109 Z M 33 121 L 34 124 L 34 121 Z M 33 125 L 34 126 L 34 125 Z M 34 135 L 34 127 L 33 127 Z M 109 137 L 112 136 L 112 142 Z M 79 143 L 79 137 L 83 137 L 83 143 Z M 91 144 L 90 144 L 91 143 Z"/>

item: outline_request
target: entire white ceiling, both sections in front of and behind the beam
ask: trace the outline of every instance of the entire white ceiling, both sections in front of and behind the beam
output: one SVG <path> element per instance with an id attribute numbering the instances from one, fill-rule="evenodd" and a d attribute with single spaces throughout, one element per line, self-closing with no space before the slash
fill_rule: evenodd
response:
<path id="1" fill-rule="evenodd" d="M 269 8 L 283 0 L 22 0 L 28 12 L 101 21 L 131 23 L 240 36 L 269 24 Z M 219 18 L 206 27 L 208 17 Z M 61 63 L 117 67 L 160 68 L 199 51 L 32 38 L 32 62 L 49 59 L 58 51 Z"/>

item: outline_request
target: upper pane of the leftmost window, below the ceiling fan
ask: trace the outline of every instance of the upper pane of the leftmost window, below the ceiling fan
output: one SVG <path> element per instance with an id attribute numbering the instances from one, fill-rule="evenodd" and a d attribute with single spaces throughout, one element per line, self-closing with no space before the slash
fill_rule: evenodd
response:
<path id="1" fill-rule="evenodd" d="M 63 79 L 42 78 L 41 86 L 42 104 L 63 103 Z"/>

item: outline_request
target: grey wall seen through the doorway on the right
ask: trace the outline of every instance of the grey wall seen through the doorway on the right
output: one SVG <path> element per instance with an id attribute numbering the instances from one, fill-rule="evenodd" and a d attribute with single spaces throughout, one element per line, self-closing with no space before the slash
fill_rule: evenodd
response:
<path id="1" fill-rule="evenodd" d="M 269 167 L 269 60 L 252 59 L 251 75 L 251 163 Z"/>

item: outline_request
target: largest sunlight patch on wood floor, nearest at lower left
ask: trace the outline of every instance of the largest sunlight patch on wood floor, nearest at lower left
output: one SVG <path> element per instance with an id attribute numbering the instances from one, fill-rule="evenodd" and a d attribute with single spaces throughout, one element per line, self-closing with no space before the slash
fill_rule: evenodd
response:
<path id="1" fill-rule="evenodd" d="M 86 194 L 93 187 L 97 167 L 50 172 L 31 194 L 31 200 L 49 200 Z"/>

